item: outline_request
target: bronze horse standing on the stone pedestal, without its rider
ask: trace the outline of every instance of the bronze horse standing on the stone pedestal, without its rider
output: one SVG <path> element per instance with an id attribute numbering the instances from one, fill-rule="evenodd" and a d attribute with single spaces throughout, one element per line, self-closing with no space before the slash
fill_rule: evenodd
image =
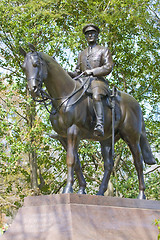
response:
<path id="1" fill-rule="evenodd" d="M 81 139 L 99 141 L 104 161 L 104 176 L 97 195 L 104 195 L 113 169 L 112 158 L 112 110 L 103 100 L 104 129 L 103 137 L 94 135 L 95 113 L 92 99 L 84 93 L 79 81 L 72 79 L 55 59 L 45 53 L 36 52 L 29 45 L 31 52 L 26 53 L 20 48 L 25 57 L 23 70 L 28 87 L 33 98 L 43 96 L 52 101 L 50 121 L 57 139 L 67 151 L 67 184 L 64 193 L 72 193 L 74 171 L 79 182 L 79 194 L 85 194 L 86 181 L 81 170 L 78 157 L 78 146 Z M 48 91 L 42 94 L 42 83 Z M 47 96 L 47 97 L 46 97 Z M 155 164 L 145 132 L 142 111 L 138 102 L 129 94 L 118 91 L 119 114 L 115 121 L 115 142 L 122 138 L 129 146 L 139 180 L 139 199 L 145 199 L 145 184 L 143 177 L 143 160 Z M 45 99 L 44 99 L 45 101 Z M 142 157 L 143 156 L 143 157 Z"/>

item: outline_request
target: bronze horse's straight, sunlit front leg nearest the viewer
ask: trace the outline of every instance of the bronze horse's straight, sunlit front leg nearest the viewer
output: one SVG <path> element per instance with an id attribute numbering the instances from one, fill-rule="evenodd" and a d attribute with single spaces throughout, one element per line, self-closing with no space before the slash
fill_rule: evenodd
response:
<path id="1" fill-rule="evenodd" d="M 72 125 L 67 132 L 67 185 L 63 193 L 73 192 L 75 155 L 79 144 L 78 132 L 79 129 L 76 125 Z"/>

